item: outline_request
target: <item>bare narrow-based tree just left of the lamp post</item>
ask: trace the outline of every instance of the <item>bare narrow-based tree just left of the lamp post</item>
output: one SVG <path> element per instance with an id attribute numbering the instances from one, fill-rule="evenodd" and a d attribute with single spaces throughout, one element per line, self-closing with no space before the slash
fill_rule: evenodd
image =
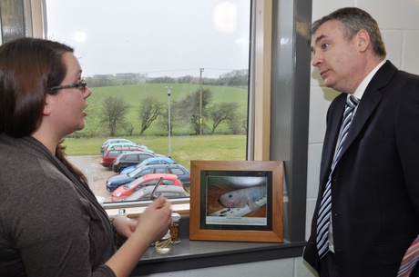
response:
<path id="1" fill-rule="evenodd" d="M 138 118 L 141 122 L 141 130 L 139 135 L 143 135 L 144 131 L 163 113 L 163 104 L 158 102 L 156 97 L 146 96 L 142 99 L 139 107 Z"/>

